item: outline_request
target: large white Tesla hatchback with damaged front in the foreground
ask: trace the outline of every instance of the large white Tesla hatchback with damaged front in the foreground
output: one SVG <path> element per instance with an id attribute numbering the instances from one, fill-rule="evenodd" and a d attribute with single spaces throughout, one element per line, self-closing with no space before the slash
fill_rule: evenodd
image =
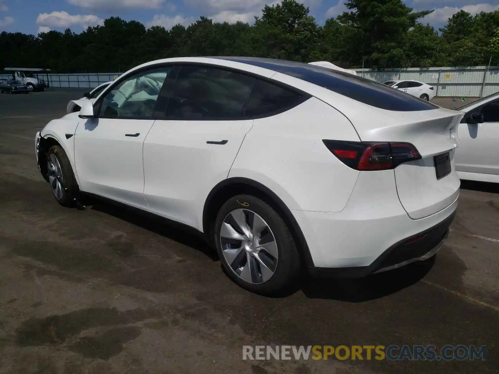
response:
<path id="1" fill-rule="evenodd" d="M 310 64 L 170 58 L 50 121 L 35 149 L 60 204 L 98 195 L 194 227 L 237 284 L 273 294 L 303 267 L 363 277 L 433 256 L 463 116 Z"/>

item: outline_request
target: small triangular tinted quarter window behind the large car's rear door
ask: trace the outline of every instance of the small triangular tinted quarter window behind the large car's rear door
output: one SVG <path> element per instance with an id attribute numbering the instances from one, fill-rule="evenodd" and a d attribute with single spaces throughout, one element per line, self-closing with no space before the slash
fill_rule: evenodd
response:
<path id="1" fill-rule="evenodd" d="M 246 108 L 246 115 L 255 118 L 277 114 L 296 105 L 300 99 L 301 96 L 296 92 L 257 79 Z"/>

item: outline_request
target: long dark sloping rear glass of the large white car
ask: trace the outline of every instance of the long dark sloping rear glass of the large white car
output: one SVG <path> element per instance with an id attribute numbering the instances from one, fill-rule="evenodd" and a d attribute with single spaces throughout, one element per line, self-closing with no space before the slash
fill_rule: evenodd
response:
<path id="1" fill-rule="evenodd" d="M 320 66 L 294 61 L 256 58 L 256 57 L 218 57 L 238 61 L 266 69 L 278 71 L 304 81 L 325 87 L 340 95 L 360 101 L 377 108 L 410 112 L 439 108 L 437 105 L 421 100 L 401 91 L 394 90 L 384 84 L 352 75 L 342 71 L 334 71 Z"/>

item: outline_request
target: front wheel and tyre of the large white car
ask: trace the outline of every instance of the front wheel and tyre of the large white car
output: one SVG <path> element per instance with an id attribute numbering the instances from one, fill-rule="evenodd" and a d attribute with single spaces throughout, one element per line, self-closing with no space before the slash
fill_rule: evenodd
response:
<path id="1" fill-rule="evenodd" d="M 59 204 L 73 206 L 73 196 L 78 191 L 71 163 L 60 146 L 52 146 L 47 152 L 47 177 L 50 188 Z"/>

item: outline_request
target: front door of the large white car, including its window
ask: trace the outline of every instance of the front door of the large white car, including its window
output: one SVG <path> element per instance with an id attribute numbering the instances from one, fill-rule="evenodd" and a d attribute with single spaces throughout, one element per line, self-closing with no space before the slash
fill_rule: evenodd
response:
<path id="1" fill-rule="evenodd" d="M 82 120 L 74 136 L 80 188 L 149 210 L 144 198 L 144 139 L 169 67 L 126 77 L 94 104 L 96 118 Z"/>

